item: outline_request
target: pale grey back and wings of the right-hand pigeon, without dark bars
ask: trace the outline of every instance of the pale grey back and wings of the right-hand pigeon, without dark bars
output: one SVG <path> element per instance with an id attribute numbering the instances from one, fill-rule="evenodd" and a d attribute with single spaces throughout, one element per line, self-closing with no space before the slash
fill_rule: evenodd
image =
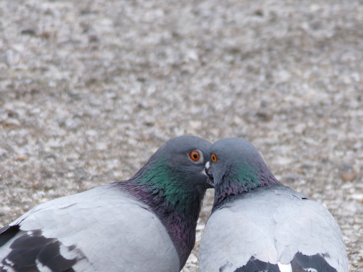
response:
<path id="1" fill-rule="evenodd" d="M 271 264 L 289 264 L 297 252 L 326 254 L 337 271 L 348 271 L 340 229 L 325 207 L 285 186 L 256 193 L 216 210 L 200 245 L 200 271 L 234 271 L 251 256 Z"/>

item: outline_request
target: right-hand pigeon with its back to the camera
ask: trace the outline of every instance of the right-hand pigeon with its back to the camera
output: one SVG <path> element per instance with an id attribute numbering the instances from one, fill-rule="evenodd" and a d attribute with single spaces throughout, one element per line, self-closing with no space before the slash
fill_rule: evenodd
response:
<path id="1" fill-rule="evenodd" d="M 349 271 L 333 216 L 278 182 L 248 141 L 216 141 L 206 169 L 215 199 L 200 242 L 200 272 Z"/>

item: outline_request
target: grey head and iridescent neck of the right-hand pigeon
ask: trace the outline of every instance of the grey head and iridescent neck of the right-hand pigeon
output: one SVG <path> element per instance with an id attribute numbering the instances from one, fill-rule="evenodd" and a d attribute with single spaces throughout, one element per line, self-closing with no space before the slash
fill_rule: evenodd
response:
<path id="1" fill-rule="evenodd" d="M 278 183 L 257 149 L 242 138 L 216 141 L 209 149 L 206 172 L 214 181 L 220 201 L 228 195 Z"/>

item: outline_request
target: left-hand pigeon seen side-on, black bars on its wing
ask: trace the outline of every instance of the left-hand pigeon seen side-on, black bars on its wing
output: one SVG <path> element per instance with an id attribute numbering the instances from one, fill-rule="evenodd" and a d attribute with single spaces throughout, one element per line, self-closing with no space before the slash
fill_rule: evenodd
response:
<path id="1" fill-rule="evenodd" d="M 180 271 L 212 187 L 210 146 L 176 137 L 130 180 L 35 207 L 0 229 L 0 271 Z"/>

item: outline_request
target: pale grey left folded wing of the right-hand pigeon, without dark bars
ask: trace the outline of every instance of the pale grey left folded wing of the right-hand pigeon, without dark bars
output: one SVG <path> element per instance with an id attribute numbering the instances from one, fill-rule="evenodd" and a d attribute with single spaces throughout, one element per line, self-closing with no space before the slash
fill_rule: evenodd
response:
<path id="1" fill-rule="evenodd" d="M 246 217 L 236 206 L 217 210 L 209 217 L 200 242 L 200 271 L 235 271 L 250 257 L 276 260 L 278 253 L 272 228 L 261 228 L 259 222 Z M 266 224 L 272 227 L 272 224 Z M 256 239 L 256 238 L 259 239 Z M 266 250 L 268 248 L 269 250 Z"/>

